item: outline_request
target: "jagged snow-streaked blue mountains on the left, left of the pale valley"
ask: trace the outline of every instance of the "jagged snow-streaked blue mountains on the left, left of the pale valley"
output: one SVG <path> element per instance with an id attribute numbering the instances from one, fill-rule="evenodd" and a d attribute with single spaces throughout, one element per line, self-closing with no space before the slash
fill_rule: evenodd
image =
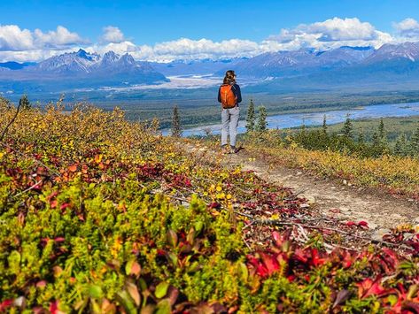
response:
<path id="1" fill-rule="evenodd" d="M 134 84 L 158 84 L 167 81 L 150 63 L 136 61 L 131 55 L 113 51 L 103 56 L 85 50 L 50 57 L 38 64 L 0 64 L 0 88 L 54 91 L 72 88 L 119 87 Z"/>

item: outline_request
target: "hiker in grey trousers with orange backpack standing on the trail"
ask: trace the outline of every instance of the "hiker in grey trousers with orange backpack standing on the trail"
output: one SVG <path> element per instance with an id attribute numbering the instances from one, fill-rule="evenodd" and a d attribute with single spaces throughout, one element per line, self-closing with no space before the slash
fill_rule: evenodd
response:
<path id="1" fill-rule="evenodd" d="M 236 82 L 236 73 L 229 70 L 218 89 L 218 102 L 222 105 L 221 111 L 221 148 L 229 153 L 237 153 L 236 137 L 240 109 L 238 103 L 242 101 L 240 87 Z M 227 138 L 229 135 L 229 145 Z"/>

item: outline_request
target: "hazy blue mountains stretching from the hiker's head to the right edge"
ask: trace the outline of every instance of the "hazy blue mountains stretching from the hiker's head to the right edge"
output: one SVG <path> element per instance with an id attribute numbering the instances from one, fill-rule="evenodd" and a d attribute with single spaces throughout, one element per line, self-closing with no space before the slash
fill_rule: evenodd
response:
<path id="1" fill-rule="evenodd" d="M 238 62 L 235 70 L 240 77 L 263 80 L 251 88 L 255 92 L 415 88 L 419 84 L 419 43 L 384 44 L 377 50 L 345 46 L 269 52 Z"/>

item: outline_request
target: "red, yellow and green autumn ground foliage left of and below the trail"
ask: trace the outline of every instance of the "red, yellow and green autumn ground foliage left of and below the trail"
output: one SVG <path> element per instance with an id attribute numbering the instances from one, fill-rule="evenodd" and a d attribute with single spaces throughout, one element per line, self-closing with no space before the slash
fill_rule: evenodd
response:
<path id="1" fill-rule="evenodd" d="M 0 110 L 5 126 L 15 110 Z M 327 249 L 273 225 L 254 241 L 253 218 L 301 219 L 306 200 L 155 123 L 58 104 L 21 112 L 0 145 L 0 311 L 419 310 L 415 245 Z"/>

